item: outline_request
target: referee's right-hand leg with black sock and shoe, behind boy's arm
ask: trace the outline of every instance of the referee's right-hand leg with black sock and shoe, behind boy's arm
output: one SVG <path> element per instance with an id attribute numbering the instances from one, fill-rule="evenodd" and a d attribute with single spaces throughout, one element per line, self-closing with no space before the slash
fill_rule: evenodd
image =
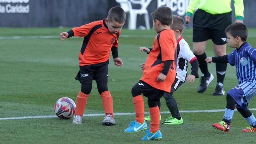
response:
<path id="1" fill-rule="evenodd" d="M 224 45 L 213 44 L 213 47 L 214 47 L 215 56 L 226 55 L 226 44 Z M 217 86 L 213 95 L 225 95 L 223 82 L 224 82 L 226 70 L 227 70 L 227 63 L 216 63 Z"/>

